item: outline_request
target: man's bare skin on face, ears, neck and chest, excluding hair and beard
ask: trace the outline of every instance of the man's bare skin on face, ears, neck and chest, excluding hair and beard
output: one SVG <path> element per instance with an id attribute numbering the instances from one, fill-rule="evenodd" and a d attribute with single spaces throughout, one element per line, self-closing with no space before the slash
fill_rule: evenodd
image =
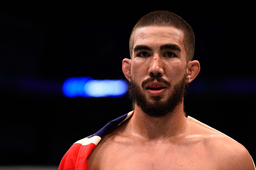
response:
<path id="1" fill-rule="evenodd" d="M 183 39 L 183 32 L 172 27 L 136 30 L 133 49 L 143 45 L 150 50 L 134 50 L 132 59 L 123 60 L 122 70 L 128 80 L 132 77 L 137 82 L 148 102 L 154 104 L 154 96 L 166 100 L 184 74 L 189 82 L 198 75 L 200 64 L 186 60 Z M 180 50 L 160 48 L 166 44 Z M 154 76 L 171 86 L 157 92 L 141 86 Z M 89 170 L 254 170 L 250 154 L 241 144 L 187 119 L 183 102 L 164 118 L 152 118 L 136 105 L 131 119 L 102 138 L 88 164 Z"/>

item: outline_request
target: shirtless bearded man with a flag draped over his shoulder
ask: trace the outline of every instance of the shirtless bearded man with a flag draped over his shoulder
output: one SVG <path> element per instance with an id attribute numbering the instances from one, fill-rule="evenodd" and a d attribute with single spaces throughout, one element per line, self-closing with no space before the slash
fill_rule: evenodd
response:
<path id="1" fill-rule="evenodd" d="M 186 84 L 200 71 L 192 28 L 169 11 L 142 17 L 122 70 L 135 110 L 73 144 L 60 170 L 255 170 L 248 151 L 185 116 Z"/>

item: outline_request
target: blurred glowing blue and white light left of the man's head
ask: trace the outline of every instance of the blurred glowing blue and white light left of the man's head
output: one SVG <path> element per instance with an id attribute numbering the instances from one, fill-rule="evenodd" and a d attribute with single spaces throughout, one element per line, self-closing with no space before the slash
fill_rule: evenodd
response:
<path id="1" fill-rule="evenodd" d="M 62 85 L 62 93 L 67 97 L 121 97 L 126 94 L 127 87 L 128 83 L 123 79 L 70 77 Z"/>

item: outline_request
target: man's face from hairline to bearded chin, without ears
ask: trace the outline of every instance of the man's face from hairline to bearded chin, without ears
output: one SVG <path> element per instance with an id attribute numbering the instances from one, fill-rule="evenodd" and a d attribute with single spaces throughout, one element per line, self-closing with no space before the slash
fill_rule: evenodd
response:
<path id="1" fill-rule="evenodd" d="M 170 102 L 175 107 L 180 104 L 187 84 L 186 64 L 182 31 L 155 26 L 137 29 L 134 33 L 130 74 L 130 89 L 144 101 L 137 105 L 147 104 L 147 108 L 160 109 Z M 173 99 L 178 101 L 173 102 Z"/>

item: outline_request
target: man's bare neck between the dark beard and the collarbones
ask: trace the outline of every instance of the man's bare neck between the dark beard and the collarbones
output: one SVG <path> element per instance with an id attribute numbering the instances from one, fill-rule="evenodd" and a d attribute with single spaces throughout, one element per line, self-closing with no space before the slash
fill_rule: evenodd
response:
<path id="1" fill-rule="evenodd" d="M 183 103 L 163 118 L 148 116 L 140 107 L 135 105 L 135 113 L 131 118 L 130 128 L 131 133 L 143 140 L 176 139 L 186 132 L 187 123 Z"/>

